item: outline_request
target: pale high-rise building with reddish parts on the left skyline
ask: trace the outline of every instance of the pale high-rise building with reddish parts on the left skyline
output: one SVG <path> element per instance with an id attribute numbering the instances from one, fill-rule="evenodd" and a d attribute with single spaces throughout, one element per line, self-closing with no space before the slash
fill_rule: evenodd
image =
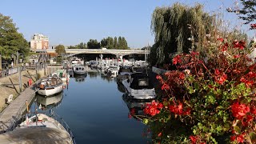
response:
<path id="1" fill-rule="evenodd" d="M 49 48 L 49 38 L 43 34 L 34 34 L 30 40 L 30 48 L 46 50 Z"/>

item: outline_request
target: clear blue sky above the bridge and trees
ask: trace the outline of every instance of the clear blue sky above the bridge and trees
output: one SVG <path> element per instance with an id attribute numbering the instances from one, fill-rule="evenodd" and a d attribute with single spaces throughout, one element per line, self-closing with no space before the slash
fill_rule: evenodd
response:
<path id="1" fill-rule="evenodd" d="M 234 5 L 234 0 L 2 0 L 0 13 L 10 16 L 27 40 L 39 33 L 50 38 L 50 45 L 70 46 L 123 36 L 130 47 L 140 48 L 154 43 L 150 21 L 155 7 L 174 2 L 199 2 L 209 12 Z M 238 22 L 232 14 L 224 16 Z"/>

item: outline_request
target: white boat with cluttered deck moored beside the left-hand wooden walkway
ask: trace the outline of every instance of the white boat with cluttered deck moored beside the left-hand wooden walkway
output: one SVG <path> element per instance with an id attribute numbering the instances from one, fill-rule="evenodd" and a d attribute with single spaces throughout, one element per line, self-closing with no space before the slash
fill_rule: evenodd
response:
<path id="1" fill-rule="evenodd" d="M 62 79 L 58 77 L 42 78 L 38 84 L 38 94 L 50 96 L 62 92 Z"/>

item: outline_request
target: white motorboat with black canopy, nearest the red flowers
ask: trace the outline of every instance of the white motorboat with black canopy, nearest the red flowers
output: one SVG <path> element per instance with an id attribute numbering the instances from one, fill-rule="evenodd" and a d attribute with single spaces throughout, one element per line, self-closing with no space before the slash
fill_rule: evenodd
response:
<path id="1" fill-rule="evenodd" d="M 134 99 L 156 98 L 154 86 L 150 83 L 150 78 L 143 73 L 130 74 L 130 78 L 122 81 L 126 89 L 126 94 Z"/>

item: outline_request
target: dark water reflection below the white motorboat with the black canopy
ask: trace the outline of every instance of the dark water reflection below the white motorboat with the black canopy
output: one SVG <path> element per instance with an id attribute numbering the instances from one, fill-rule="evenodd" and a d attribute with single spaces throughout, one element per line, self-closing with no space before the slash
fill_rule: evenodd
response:
<path id="1" fill-rule="evenodd" d="M 132 99 L 126 94 L 122 95 L 123 102 L 126 102 L 126 105 L 130 111 L 130 113 L 133 113 L 136 115 L 136 119 L 140 118 L 140 116 L 145 115 L 143 109 L 145 108 L 146 104 L 153 101 L 153 99 L 146 99 L 146 100 L 137 100 Z"/>

